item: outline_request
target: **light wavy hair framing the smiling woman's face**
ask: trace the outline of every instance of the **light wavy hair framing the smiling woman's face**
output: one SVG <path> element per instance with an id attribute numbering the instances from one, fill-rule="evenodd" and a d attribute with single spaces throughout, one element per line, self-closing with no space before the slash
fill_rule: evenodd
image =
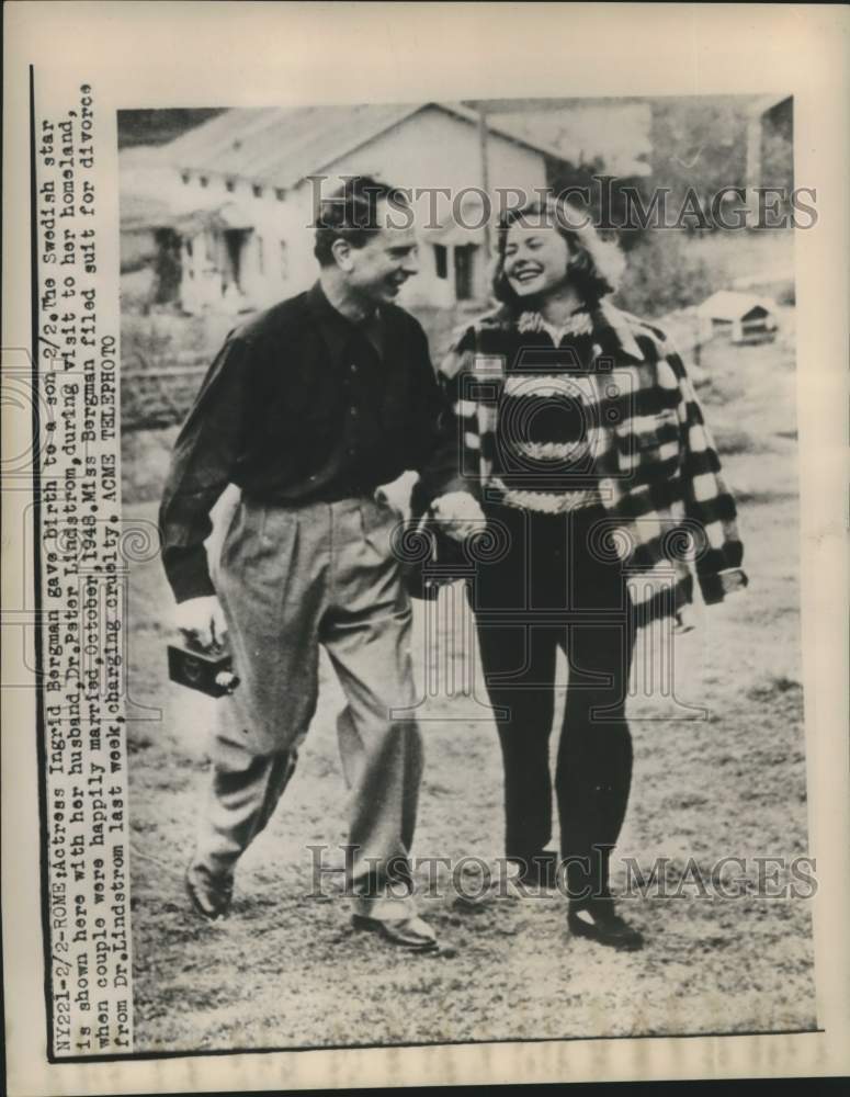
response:
<path id="1" fill-rule="evenodd" d="M 505 274 L 505 248 L 511 225 L 555 228 L 567 241 L 569 259 L 564 271 L 575 285 L 586 305 L 596 307 L 602 297 L 613 293 L 623 271 L 623 256 L 615 244 L 600 239 L 590 214 L 567 202 L 566 199 L 535 199 L 519 210 L 509 210 L 499 220 L 496 230 L 496 265 L 492 274 L 495 297 L 510 309 L 521 312 L 528 302 L 512 290 Z"/>

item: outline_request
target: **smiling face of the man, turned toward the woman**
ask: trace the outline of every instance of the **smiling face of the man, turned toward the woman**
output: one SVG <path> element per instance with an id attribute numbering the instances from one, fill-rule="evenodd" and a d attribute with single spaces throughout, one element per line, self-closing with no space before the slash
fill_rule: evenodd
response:
<path id="1" fill-rule="evenodd" d="M 394 301 L 405 282 L 419 273 L 416 234 L 412 226 L 406 227 L 409 214 L 386 202 L 378 202 L 376 212 L 379 230 L 362 248 L 349 249 L 345 272 L 349 289 L 372 305 Z"/>

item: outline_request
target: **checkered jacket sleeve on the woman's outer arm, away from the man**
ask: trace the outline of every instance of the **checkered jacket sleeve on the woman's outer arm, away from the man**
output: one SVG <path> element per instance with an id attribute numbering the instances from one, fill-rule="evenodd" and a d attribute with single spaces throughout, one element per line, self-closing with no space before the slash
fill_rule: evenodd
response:
<path id="1" fill-rule="evenodd" d="M 744 545 L 738 535 L 735 500 L 723 478 L 717 449 L 684 363 L 669 343 L 664 348 L 664 360 L 678 388 L 683 501 L 696 536 L 696 579 L 704 601 L 711 604 L 747 586 L 740 566 Z"/>

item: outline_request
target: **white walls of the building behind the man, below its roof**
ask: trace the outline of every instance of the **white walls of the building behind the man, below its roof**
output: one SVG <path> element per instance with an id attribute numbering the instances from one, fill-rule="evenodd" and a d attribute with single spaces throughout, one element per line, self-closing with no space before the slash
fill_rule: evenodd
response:
<path id="1" fill-rule="evenodd" d="M 224 207 L 234 227 L 253 227 L 253 237 L 242 261 L 245 296 L 239 302 L 224 303 L 225 307 L 234 310 L 237 307 L 267 307 L 306 289 L 316 279 L 318 265 L 313 257 L 310 225 L 317 189 L 313 183 L 302 182 L 286 191 L 281 201 L 273 186 L 264 186 L 258 196 L 248 180 L 235 179 L 233 188 L 228 189 L 227 178 L 213 171 L 192 170 L 184 181 L 180 170 L 165 163 L 159 149 L 129 149 L 122 154 L 121 166 L 122 193 L 146 194 L 169 213 L 178 215 Z M 495 135 L 488 138 L 488 170 L 496 208 L 497 188 L 531 191 L 545 185 L 543 156 Z M 457 195 L 465 189 L 481 184 L 480 147 L 475 124 L 438 108 L 427 108 L 331 163 L 322 173 L 329 177 L 322 184 L 322 194 L 339 184 L 341 174 L 361 173 L 399 186 L 447 188 L 450 196 L 439 197 L 435 205 L 428 194 L 422 194 L 415 203 L 416 224 L 421 236 L 420 273 L 405 287 L 405 303 L 450 307 L 455 301 L 452 248 L 469 242 L 477 246 L 473 268 L 475 295 L 486 293 L 489 256 L 484 251 L 484 234 L 480 229 L 466 231 L 454 226 L 454 212 L 460 206 L 453 206 L 453 201 L 458 201 Z M 474 219 L 479 200 L 469 195 L 468 202 L 472 216 L 468 204 L 464 210 L 466 216 Z M 262 268 L 258 240 L 262 240 Z M 281 265 L 281 241 L 286 246 L 285 273 Z M 450 249 L 446 279 L 437 275 L 434 242 L 442 242 Z M 192 240 L 191 256 L 184 248 L 182 304 L 188 312 L 223 307 L 220 262 L 214 241 L 203 233 Z"/>

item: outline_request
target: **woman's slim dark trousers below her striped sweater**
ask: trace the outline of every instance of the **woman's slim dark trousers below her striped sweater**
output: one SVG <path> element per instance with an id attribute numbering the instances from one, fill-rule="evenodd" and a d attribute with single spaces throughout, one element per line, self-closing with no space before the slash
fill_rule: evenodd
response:
<path id="1" fill-rule="evenodd" d="M 604 512 L 487 508 L 503 552 L 471 585 L 481 663 L 505 762 L 506 855 L 531 864 L 552 838 L 549 738 L 558 648 L 567 656 L 555 792 L 571 898 L 608 894 L 625 815 L 632 739 L 625 720 L 634 624 Z M 498 558 L 496 558 L 498 557 Z M 563 886 L 563 883 L 560 884 Z"/>

